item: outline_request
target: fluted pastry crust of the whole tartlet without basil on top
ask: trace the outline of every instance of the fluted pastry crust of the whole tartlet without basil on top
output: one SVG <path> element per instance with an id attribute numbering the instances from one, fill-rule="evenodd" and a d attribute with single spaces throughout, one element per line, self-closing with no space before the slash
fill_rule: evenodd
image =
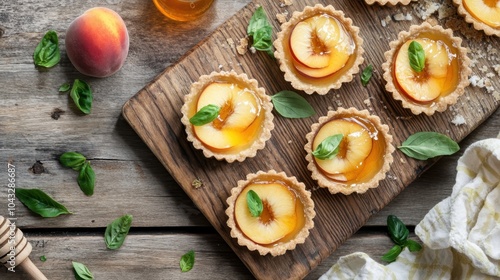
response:
<path id="1" fill-rule="evenodd" d="M 303 74 L 299 73 L 293 66 L 292 60 L 288 57 L 289 54 L 284 51 L 284 44 L 288 44 L 288 38 L 295 25 L 297 25 L 302 20 L 318 15 L 318 14 L 328 14 L 335 19 L 337 19 L 344 27 L 345 31 L 351 36 L 354 44 L 355 50 L 351 56 L 355 57 L 353 63 L 348 66 L 346 65 L 339 71 L 345 71 L 337 79 L 328 83 L 317 83 L 316 85 L 307 81 L 314 78 L 306 78 Z M 320 95 L 327 94 L 331 89 L 338 89 L 342 83 L 350 82 L 353 79 L 353 75 L 359 72 L 359 65 L 363 63 L 363 53 L 364 49 L 362 47 L 363 39 L 359 36 L 359 28 L 352 25 L 352 20 L 344 16 L 344 12 L 335 10 L 331 5 L 323 6 L 321 4 L 316 4 L 314 7 L 307 6 L 302 12 L 295 11 L 292 17 L 287 22 L 281 25 L 281 31 L 277 35 L 277 39 L 274 41 L 274 47 L 276 51 L 274 56 L 278 59 L 281 71 L 284 72 L 285 80 L 292 84 L 292 87 L 297 90 L 303 90 L 307 94 L 318 93 Z M 346 68 L 347 67 L 347 68 Z M 332 74 L 335 75 L 335 74 Z M 316 81 L 328 80 L 331 76 L 324 78 L 314 79 Z"/>

